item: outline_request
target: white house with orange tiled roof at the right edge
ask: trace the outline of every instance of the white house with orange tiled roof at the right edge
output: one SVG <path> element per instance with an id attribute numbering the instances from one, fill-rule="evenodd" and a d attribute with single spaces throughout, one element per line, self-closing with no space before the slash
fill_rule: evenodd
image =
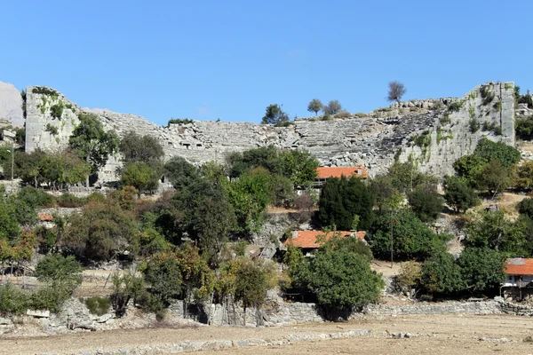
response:
<path id="1" fill-rule="evenodd" d="M 506 279 L 502 284 L 505 299 L 529 299 L 533 295 L 533 259 L 513 257 L 505 260 Z"/>

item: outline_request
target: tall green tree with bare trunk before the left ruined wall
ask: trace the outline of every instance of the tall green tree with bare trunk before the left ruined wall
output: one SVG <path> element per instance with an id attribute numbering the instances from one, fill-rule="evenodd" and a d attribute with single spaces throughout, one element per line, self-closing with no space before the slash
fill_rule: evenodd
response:
<path id="1" fill-rule="evenodd" d="M 91 164 L 91 172 L 94 174 L 106 165 L 109 154 L 116 152 L 120 140 L 114 131 L 104 130 L 96 114 L 80 114 L 79 120 L 68 144 Z M 89 177 L 86 185 L 89 186 Z"/>

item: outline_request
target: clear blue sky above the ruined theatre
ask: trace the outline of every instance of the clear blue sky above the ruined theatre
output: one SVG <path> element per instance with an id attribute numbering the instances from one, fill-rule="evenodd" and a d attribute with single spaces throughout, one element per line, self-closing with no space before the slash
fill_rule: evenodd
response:
<path id="1" fill-rule="evenodd" d="M 529 1 L 2 1 L 0 81 L 47 85 L 80 106 L 259 122 L 310 99 L 351 112 L 462 96 L 488 81 L 533 88 Z"/>

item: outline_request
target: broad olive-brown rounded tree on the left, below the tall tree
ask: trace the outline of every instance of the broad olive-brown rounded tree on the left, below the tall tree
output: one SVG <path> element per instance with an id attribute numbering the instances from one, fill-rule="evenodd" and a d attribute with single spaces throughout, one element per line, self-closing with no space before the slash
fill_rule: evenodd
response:
<path id="1" fill-rule="evenodd" d="M 91 260 L 108 260 L 126 253 L 137 253 L 139 229 L 135 218 L 113 200 L 94 202 L 81 214 L 70 217 L 64 248 Z"/>

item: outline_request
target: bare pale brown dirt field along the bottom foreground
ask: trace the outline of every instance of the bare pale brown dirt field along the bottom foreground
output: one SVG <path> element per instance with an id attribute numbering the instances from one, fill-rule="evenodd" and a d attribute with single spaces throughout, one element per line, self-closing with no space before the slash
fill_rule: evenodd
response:
<path id="1" fill-rule="evenodd" d="M 0 354 L 82 353 L 83 351 L 134 349 L 182 341 L 282 339 L 291 334 L 324 334 L 350 329 L 372 329 L 373 335 L 352 339 L 299 341 L 272 347 L 230 348 L 198 354 L 532 354 L 533 321 L 518 316 L 405 316 L 362 318 L 346 323 L 317 323 L 295 327 L 183 327 L 114 330 L 48 337 L 0 336 Z M 391 334 L 410 333 L 396 339 Z"/>

